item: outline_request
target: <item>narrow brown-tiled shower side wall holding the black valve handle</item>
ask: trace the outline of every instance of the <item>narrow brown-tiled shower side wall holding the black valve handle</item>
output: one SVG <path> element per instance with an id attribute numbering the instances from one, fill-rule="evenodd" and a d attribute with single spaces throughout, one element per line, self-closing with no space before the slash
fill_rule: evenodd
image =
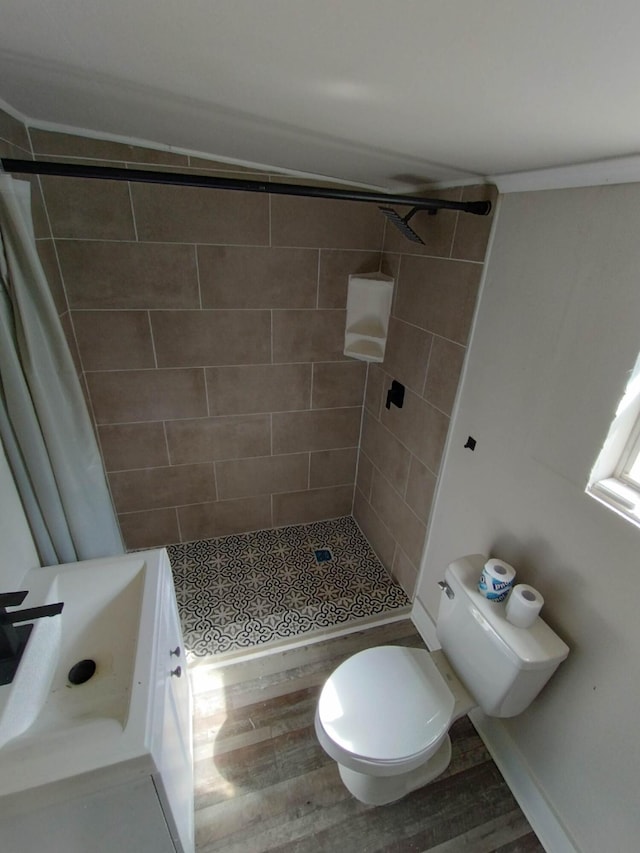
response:
<path id="1" fill-rule="evenodd" d="M 438 192 L 495 200 L 491 187 Z M 354 516 L 412 596 L 462 370 L 492 217 L 417 214 L 425 245 L 385 233 L 382 269 L 396 277 L 385 360 L 369 367 Z M 392 379 L 402 409 L 385 407 Z"/>

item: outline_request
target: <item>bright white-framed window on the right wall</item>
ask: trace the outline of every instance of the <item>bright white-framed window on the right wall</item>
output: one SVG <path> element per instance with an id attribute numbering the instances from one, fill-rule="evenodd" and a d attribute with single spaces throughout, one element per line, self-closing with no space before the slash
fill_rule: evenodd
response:
<path id="1" fill-rule="evenodd" d="M 586 491 L 640 527 L 640 356 L 593 466 Z"/>

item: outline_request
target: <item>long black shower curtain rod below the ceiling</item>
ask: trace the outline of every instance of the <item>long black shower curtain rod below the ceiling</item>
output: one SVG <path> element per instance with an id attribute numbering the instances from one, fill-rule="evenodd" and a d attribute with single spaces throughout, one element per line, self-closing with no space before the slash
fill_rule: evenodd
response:
<path id="1" fill-rule="evenodd" d="M 14 160 L 0 158 L 5 172 L 26 175 L 57 175 L 66 178 L 96 178 L 103 181 L 132 181 L 143 184 L 169 184 L 171 186 L 201 187 L 217 190 L 240 190 L 253 193 L 329 198 L 338 201 L 364 201 L 376 204 L 411 205 L 416 210 L 460 210 L 486 216 L 491 211 L 490 201 L 449 201 L 420 196 L 388 195 L 387 193 L 360 190 L 339 190 L 331 187 L 312 187 L 304 184 L 281 184 L 269 181 L 246 181 L 235 178 L 217 178 L 207 175 L 190 175 L 184 172 L 154 172 L 146 169 L 122 169 L 115 166 L 84 166 L 72 163 L 53 163 L 42 160 Z"/>

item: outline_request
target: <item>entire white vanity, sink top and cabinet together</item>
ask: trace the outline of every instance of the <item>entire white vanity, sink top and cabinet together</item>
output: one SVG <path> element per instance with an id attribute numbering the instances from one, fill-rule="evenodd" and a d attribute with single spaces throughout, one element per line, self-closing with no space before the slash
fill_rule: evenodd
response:
<path id="1" fill-rule="evenodd" d="M 193 853 L 192 699 L 166 550 L 32 569 L 20 586 L 25 608 L 64 607 L 33 623 L 0 685 L 0 847 Z M 70 679 L 85 660 L 95 671 Z"/>

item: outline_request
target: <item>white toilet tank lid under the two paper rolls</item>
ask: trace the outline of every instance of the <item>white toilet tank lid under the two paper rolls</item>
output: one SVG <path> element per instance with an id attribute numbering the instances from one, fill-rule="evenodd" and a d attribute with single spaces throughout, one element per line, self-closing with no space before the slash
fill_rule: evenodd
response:
<path id="1" fill-rule="evenodd" d="M 507 619 L 505 602 L 489 601 L 478 592 L 478 580 L 488 559 L 483 554 L 461 557 L 449 564 L 445 578 L 456 595 L 467 596 L 473 616 L 521 669 L 557 666 L 569 654 L 569 646 L 540 616 L 530 628 L 517 628 Z"/>

